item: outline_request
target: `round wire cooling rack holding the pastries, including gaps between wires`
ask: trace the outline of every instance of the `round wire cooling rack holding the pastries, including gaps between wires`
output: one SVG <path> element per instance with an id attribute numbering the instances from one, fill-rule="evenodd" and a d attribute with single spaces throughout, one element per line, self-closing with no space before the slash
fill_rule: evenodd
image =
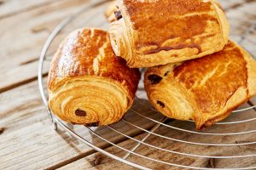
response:
<path id="1" fill-rule="evenodd" d="M 218 167 L 218 163 L 224 167 L 214 169 L 256 169 L 256 148 L 253 148 L 256 144 L 256 135 L 253 138 L 253 134 L 256 133 L 256 126 L 253 126 L 256 123 L 256 105 L 253 105 L 253 100 L 241 105 L 223 122 L 218 122 L 215 126 L 200 132 L 195 131 L 194 122 L 175 121 L 157 113 L 145 97 L 143 80 L 139 84 L 137 98 L 131 110 L 120 122 L 110 126 L 72 125 L 62 122 L 49 110 L 47 85 L 43 77 L 47 76 L 52 54 L 61 39 L 74 29 L 85 26 L 108 29 L 108 21 L 104 16 L 98 16 L 95 13 L 97 20 L 106 20 L 104 24 L 96 26 L 95 22 L 90 20 L 95 17 L 94 13 L 90 12 L 91 16 L 87 14 L 91 7 L 97 7 L 102 2 L 108 1 L 96 1 L 67 17 L 55 27 L 44 44 L 39 60 L 38 83 L 49 119 L 55 130 L 61 127 L 73 138 L 88 144 L 102 154 L 139 169 L 153 169 L 156 166 L 213 169 Z M 230 23 L 231 38 L 252 55 L 256 54 L 256 51 L 253 51 L 254 48 L 247 48 L 252 45 L 256 47 L 256 40 L 251 38 L 256 31 L 256 22 L 253 23 L 241 17 L 241 19 L 231 18 Z M 255 55 L 253 57 L 255 58 Z M 122 141 L 129 141 L 129 144 Z M 114 151 L 106 149 L 106 144 L 108 148 L 114 148 Z M 247 167 L 236 167 L 236 162 L 241 161 Z M 145 162 L 147 162 L 146 165 Z"/>

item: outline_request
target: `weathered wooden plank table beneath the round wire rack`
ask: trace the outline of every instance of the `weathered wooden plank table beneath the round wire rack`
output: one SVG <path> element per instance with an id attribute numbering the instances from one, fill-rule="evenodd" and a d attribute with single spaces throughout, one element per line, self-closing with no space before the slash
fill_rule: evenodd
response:
<path id="1" fill-rule="evenodd" d="M 37 72 L 38 57 L 43 48 L 44 42 L 55 26 L 69 14 L 73 14 L 80 8 L 95 3 L 95 0 L 0 0 L 0 169 L 134 169 L 122 162 L 114 161 L 107 156 L 97 153 L 86 144 L 70 137 L 61 128 L 58 131 L 52 129 L 44 108 L 41 96 L 38 92 Z M 227 15 L 239 26 L 236 30 L 238 35 L 244 35 L 245 27 L 250 27 L 256 21 L 256 1 L 255 0 L 221 0 L 227 11 Z M 84 13 L 84 20 L 94 26 L 108 29 L 108 21 L 103 19 L 103 11 L 108 6 L 108 1 L 95 5 Z M 82 17 L 83 19 L 83 17 Z M 80 21 L 82 20 L 80 19 Z M 49 58 L 54 53 L 56 45 L 61 38 L 72 31 L 73 26 L 78 26 L 79 20 L 64 31 L 61 31 L 55 45 L 49 49 Z M 248 24 L 249 23 L 249 24 Z M 249 40 L 244 42 L 244 46 L 253 54 L 256 54 L 256 31 L 249 32 Z M 239 41 L 234 34 L 233 38 Z M 253 46 L 254 43 L 254 46 Z M 47 69 L 44 70 L 44 81 L 46 81 Z M 254 99 L 255 100 L 255 99 Z M 252 100 L 252 102 L 254 102 Z M 146 111 L 146 110 L 145 110 Z M 148 111 L 150 115 L 151 112 Z M 255 111 L 247 111 L 247 116 L 252 116 Z M 152 115 L 151 115 L 152 116 Z M 129 117 L 128 117 L 129 118 Z M 156 118 L 161 118 L 156 116 Z M 143 124 L 143 120 L 135 120 L 138 124 Z M 183 126 L 186 123 L 170 122 L 173 125 Z M 150 129 L 154 123 L 144 123 L 143 127 Z M 242 125 L 243 130 L 255 127 L 255 122 L 247 122 Z M 226 132 L 236 132 L 241 127 L 230 127 Z M 140 130 L 130 130 L 128 127 L 119 127 L 120 130 L 135 139 L 143 139 L 147 133 Z M 214 129 L 214 127 L 213 127 Z M 184 139 L 193 140 L 195 136 L 168 132 L 160 127 L 159 133 L 171 133 L 172 136 L 179 135 Z M 113 143 L 131 149 L 137 143 L 131 139 L 119 137 L 109 129 L 99 130 L 102 135 L 113 139 Z M 87 134 L 88 138 L 90 134 Z M 198 140 L 200 137 L 198 137 Z M 247 134 L 242 137 L 223 136 L 218 141 L 256 141 L 255 135 Z M 214 138 L 212 139 L 214 140 Z M 170 144 L 166 141 L 156 140 L 151 137 L 148 143 L 155 143 L 162 148 L 173 150 L 194 150 L 186 144 Z M 118 156 L 123 156 L 124 151 L 118 150 L 113 146 L 102 143 L 99 139 L 94 139 L 94 144 L 108 150 Z M 233 148 L 223 148 L 214 150 L 212 147 L 201 148 L 205 153 L 256 153 L 256 146 L 241 146 Z M 145 149 L 140 146 L 137 150 L 145 156 L 161 158 L 159 151 Z M 131 156 L 130 161 L 136 161 L 141 165 L 153 167 L 154 169 L 168 169 L 158 163 L 144 161 L 136 156 Z M 184 158 L 183 156 L 165 155 L 165 161 L 175 161 L 186 165 L 201 167 L 233 167 L 255 166 L 256 158 L 251 157 L 244 160 L 214 160 Z M 177 169 L 172 167 L 172 169 Z"/>

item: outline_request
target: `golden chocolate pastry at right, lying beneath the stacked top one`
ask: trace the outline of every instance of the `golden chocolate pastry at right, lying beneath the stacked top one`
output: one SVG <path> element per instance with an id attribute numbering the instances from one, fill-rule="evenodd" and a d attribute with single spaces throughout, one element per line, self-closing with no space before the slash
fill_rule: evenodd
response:
<path id="1" fill-rule="evenodd" d="M 148 99 L 165 116 L 212 126 L 256 94 L 256 62 L 235 42 L 201 59 L 149 68 Z"/>

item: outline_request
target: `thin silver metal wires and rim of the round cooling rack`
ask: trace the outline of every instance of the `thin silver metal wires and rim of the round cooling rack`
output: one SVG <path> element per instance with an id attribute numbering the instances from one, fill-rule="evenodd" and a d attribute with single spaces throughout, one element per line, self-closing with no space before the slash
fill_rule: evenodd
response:
<path id="1" fill-rule="evenodd" d="M 91 5 L 97 5 L 97 3 L 102 3 L 102 1 L 98 1 L 96 3 L 93 3 Z M 216 147 L 218 150 L 218 147 L 237 147 L 237 146 L 247 146 L 247 145 L 252 145 L 252 144 L 256 144 L 256 139 L 254 141 L 245 141 L 245 142 L 241 142 L 241 143 L 227 143 L 227 142 L 221 142 L 221 143 L 212 143 L 209 141 L 189 141 L 186 139 L 182 139 L 182 138 L 177 138 L 177 136 L 168 136 L 166 134 L 161 134 L 161 133 L 157 133 L 156 131 L 159 128 L 165 129 L 167 128 L 168 131 L 170 132 L 174 132 L 177 131 L 178 133 L 183 133 L 183 134 L 189 134 L 189 135 L 197 135 L 197 136 L 205 136 L 206 139 L 207 137 L 211 137 L 212 138 L 218 138 L 218 137 L 232 137 L 232 138 L 238 138 L 238 135 L 246 135 L 246 134 L 250 134 L 250 133 L 256 133 L 256 129 L 251 129 L 251 130 L 243 130 L 241 132 L 228 132 L 225 133 L 222 131 L 221 126 L 241 126 L 242 124 L 246 124 L 247 122 L 255 122 L 256 121 L 256 114 L 253 117 L 248 117 L 244 120 L 233 120 L 232 121 L 232 117 L 230 118 L 230 121 L 224 121 L 224 122 L 218 122 L 217 125 L 215 126 L 215 130 L 218 131 L 217 133 L 212 133 L 210 132 L 196 132 L 194 131 L 194 127 L 191 128 L 183 128 L 183 127 L 179 127 L 179 126 L 175 126 L 172 123 L 169 123 L 170 120 L 166 117 L 161 117 L 161 119 L 155 119 L 152 118 L 150 116 L 146 116 L 143 114 L 143 112 L 141 111 L 137 111 L 135 108 L 131 108 L 131 111 L 129 114 L 135 114 L 136 116 L 140 117 L 141 119 L 147 120 L 150 123 L 154 123 L 154 126 L 152 128 L 150 128 L 149 130 L 142 127 L 141 125 L 137 125 L 136 123 L 132 122 L 131 120 L 128 120 L 126 117 L 124 117 L 122 119 L 122 123 L 125 123 L 126 126 L 130 126 L 134 129 L 140 130 L 141 132 L 145 133 L 146 135 L 143 137 L 143 139 L 137 139 L 134 138 L 130 135 L 127 135 L 123 132 L 121 132 L 117 127 L 113 127 L 113 126 L 106 126 L 104 128 L 107 128 L 109 131 L 112 131 L 113 133 L 117 133 L 121 136 L 123 136 L 125 139 L 130 139 L 131 141 L 135 142 L 136 145 L 131 148 L 131 149 L 126 149 L 124 146 L 121 146 L 119 144 L 115 144 L 111 141 L 111 139 L 106 139 L 104 136 L 102 136 L 102 134 L 97 133 L 96 130 L 94 128 L 91 127 L 83 127 L 84 129 L 86 129 L 87 131 L 89 131 L 91 134 L 93 134 L 94 136 L 96 136 L 96 138 L 101 139 L 102 141 L 110 144 L 110 146 L 116 147 L 119 150 L 123 150 L 125 152 L 125 156 L 116 156 L 115 154 L 108 152 L 106 150 L 102 150 L 100 147 L 96 146 L 95 144 L 93 144 L 92 142 L 90 142 L 88 139 L 85 139 L 82 135 L 80 135 L 79 133 L 75 132 L 73 130 L 73 128 L 70 128 L 68 126 L 68 124 L 66 122 L 62 122 L 58 117 L 54 116 L 51 111 L 49 110 L 48 107 L 48 100 L 47 100 L 47 91 L 45 88 L 45 83 L 43 82 L 43 70 L 44 70 L 44 64 L 46 61 L 46 54 L 49 50 L 49 47 L 51 46 L 51 43 L 55 40 L 55 37 L 60 34 L 61 30 L 67 26 L 72 20 L 74 20 L 79 14 L 81 14 L 83 11 L 89 9 L 90 7 L 86 7 L 86 8 L 82 8 L 78 11 L 78 13 L 73 14 L 69 17 L 67 17 L 66 20 L 63 20 L 59 26 L 57 26 L 55 28 L 55 30 L 50 34 L 48 40 L 45 42 L 44 44 L 44 48 L 42 51 L 42 54 L 40 56 L 39 59 L 39 68 L 38 68 L 38 84 L 39 84 L 39 89 L 40 89 L 40 93 L 42 95 L 42 98 L 44 100 L 44 105 L 47 108 L 47 111 L 49 113 L 49 119 L 51 120 L 51 122 L 53 123 L 53 126 L 55 128 L 55 130 L 57 129 L 57 127 L 61 127 L 63 128 L 65 131 L 67 131 L 67 133 L 70 133 L 71 135 L 73 135 L 73 137 L 75 139 L 79 139 L 81 142 L 83 142 L 84 144 L 88 144 L 90 147 L 92 147 L 93 149 L 102 152 L 102 154 L 106 155 L 106 156 L 110 156 L 113 159 L 116 159 L 118 161 L 122 161 L 128 165 L 131 165 L 133 167 L 137 167 L 140 169 L 150 169 L 150 167 L 145 167 L 145 165 L 141 165 L 139 163 L 137 163 L 136 161 L 132 161 L 129 160 L 129 157 L 131 156 L 137 156 L 140 159 L 143 159 L 144 161 L 152 161 L 154 163 L 159 163 L 162 165 L 166 165 L 166 166 L 171 166 L 171 167 L 182 167 L 182 168 L 190 168 L 190 169 L 212 169 L 211 167 L 199 167 L 199 166 L 188 166 L 185 164 L 179 164 L 179 163 L 175 163 L 175 162 L 169 162 L 169 161 L 163 161 L 160 159 L 156 159 L 156 158 L 152 158 L 150 156 L 146 156 L 143 155 L 139 152 L 137 152 L 139 147 L 146 147 L 148 149 L 152 149 L 152 150 L 158 150 L 158 151 L 162 151 L 163 154 L 164 153 L 168 153 L 168 154 L 172 154 L 175 156 L 185 156 L 185 157 L 193 157 L 195 159 L 224 159 L 224 160 L 229 160 L 229 159 L 244 159 L 244 158 L 251 158 L 253 157 L 254 159 L 256 159 L 256 152 L 255 153 L 249 153 L 247 155 L 236 155 L 236 156 L 216 156 L 216 155 L 206 155 L 206 154 L 202 154 L 202 153 L 189 153 L 189 151 L 178 151 L 178 150 L 171 150 L 171 149 L 166 149 L 164 147 L 158 146 L 156 144 L 150 144 L 147 142 L 147 139 L 154 136 L 154 138 L 156 139 L 160 139 L 160 140 L 165 140 L 166 142 L 171 142 L 171 144 L 186 144 L 189 145 L 189 147 Z M 255 23 L 249 23 L 248 24 L 249 27 L 247 27 L 245 29 L 245 31 L 241 34 L 239 33 L 238 35 L 236 34 L 236 26 L 232 26 L 234 33 L 233 36 L 236 37 L 236 42 L 239 42 L 241 45 L 243 44 L 243 42 L 247 41 L 247 37 L 250 36 L 250 34 L 256 30 L 256 22 Z M 237 39 L 238 38 L 238 39 Z M 254 42 L 252 42 L 254 43 Z M 255 57 L 255 56 L 254 56 Z M 140 103 L 140 105 L 145 105 L 142 99 L 139 99 L 137 97 L 137 102 Z M 248 103 L 248 105 L 246 108 L 241 108 L 240 110 L 236 110 L 233 111 L 233 115 L 235 116 L 239 116 L 242 113 L 244 113 L 244 111 L 250 111 L 256 108 L 256 105 L 252 105 L 251 102 Z M 148 105 L 148 107 L 151 107 L 150 105 Z M 151 108 L 152 111 L 154 111 L 153 108 Z M 157 112 L 157 111 L 155 111 Z M 256 113 L 256 112 L 255 112 Z M 157 113 L 156 113 L 157 114 Z M 242 117 L 242 116 L 241 116 Z M 118 122 L 118 123 L 121 123 Z M 180 122 L 182 123 L 182 122 Z M 186 123 L 191 123 L 191 122 L 186 122 Z M 79 126 L 79 125 L 76 125 Z M 241 126 L 242 127 L 242 126 Z M 256 169 L 256 167 L 225 167 L 225 168 L 214 168 L 214 169 Z"/>

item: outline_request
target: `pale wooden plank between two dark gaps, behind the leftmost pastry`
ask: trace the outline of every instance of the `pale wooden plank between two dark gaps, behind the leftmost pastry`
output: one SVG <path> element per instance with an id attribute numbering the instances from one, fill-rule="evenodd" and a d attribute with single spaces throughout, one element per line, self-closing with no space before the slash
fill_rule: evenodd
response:
<path id="1" fill-rule="evenodd" d="M 106 1 L 98 0 L 98 2 Z M 0 67 L 5 72 L 0 75 L 0 79 L 5 80 L 0 82 L 0 92 L 35 80 L 39 54 L 49 33 L 69 14 L 73 14 L 91 3 L 96 2 L 92 0 L 62 0 L 0 20 L 0 31 L 4 32 L 0 37 L 2 44 Z M 99 12 L 104 10 L 106 5 L 108 4 L 102 3 L 100 6 L 84 10 L 84 13 L 70 23 L 56 38 L 55 45 L 52 45 L 49 50 L 49 55 L 54 54 L 61 40 L 76 28 L 82 26 L 106 27 L 108 21 L 105 20 L 103 13 Z M 47 71 L 48 68 L 44 72 Z"/>

